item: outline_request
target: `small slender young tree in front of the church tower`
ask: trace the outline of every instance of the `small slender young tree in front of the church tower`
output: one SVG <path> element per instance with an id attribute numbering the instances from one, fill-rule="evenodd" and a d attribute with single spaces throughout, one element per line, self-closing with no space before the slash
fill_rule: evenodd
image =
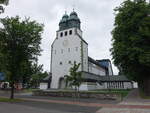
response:
<path id="1" fill-rule="evenodd" d="M 82 83 L 82 73 L 78 72 L 78 69 L 80 67 L 80 63 L 76 64 L 74 62 L 73 67 L 70 68 L 70 75 L 65 75 L 65 81 L 66 81 L 66 87 L 69 86 L 72 87 L 74 86 L 75 91 L 79 91 L 79 87 Z"/>

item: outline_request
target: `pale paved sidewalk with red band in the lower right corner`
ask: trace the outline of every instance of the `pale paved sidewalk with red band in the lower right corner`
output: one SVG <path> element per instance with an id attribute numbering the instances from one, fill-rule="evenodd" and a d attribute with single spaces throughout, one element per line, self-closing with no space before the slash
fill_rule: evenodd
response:
<path id="1" fill-rule="evenodd" d="M 135 89 L 118 104 L 118 108 L 102 108 L 96 113 L 150 113 L 149 107 L 150 99 L 141 99 L 138 89 Z"/>

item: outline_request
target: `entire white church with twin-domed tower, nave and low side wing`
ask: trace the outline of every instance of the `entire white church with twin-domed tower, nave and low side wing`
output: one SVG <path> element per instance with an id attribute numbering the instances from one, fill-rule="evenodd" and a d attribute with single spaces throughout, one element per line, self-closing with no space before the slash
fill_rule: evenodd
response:
<path id="1" fill-rule="evenodd" d="M 51 75 L 41 82 L 40 89 L 64 89 L 64 76 L 69 75 L 74 62 L 81 64 L 78 71 L 82 72 L 84 81 L 80 90 L 132 88 L 132 82 L 125 76 L 113 75 L 109 59 L 95 60 L 89 57 L 88 43 L 82 37 L 82 33 L 78 14 L 75 11 L 70 15 L 65 13 L 51 45 Z M 51 81 L 49 85 L 47 81 Z"/>

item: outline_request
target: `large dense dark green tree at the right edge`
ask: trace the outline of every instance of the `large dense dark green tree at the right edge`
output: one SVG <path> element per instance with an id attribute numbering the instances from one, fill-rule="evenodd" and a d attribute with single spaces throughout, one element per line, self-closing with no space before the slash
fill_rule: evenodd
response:
<path id="1" fill-rule="evenodd" d="M 115 11 L 111 49 L 114 63 L 150 96 L 150 4 L 127 0 Z"/>

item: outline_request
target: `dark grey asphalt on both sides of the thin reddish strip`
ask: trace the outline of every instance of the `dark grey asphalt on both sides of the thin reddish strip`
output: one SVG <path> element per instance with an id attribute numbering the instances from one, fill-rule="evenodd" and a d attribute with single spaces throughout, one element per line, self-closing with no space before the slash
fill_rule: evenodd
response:
<path id="1" fill-rule="evenodd" d="M 9 93 L 0 93 L 0 96 L 8 97 Z M 23 99 L 43 99 L 43 100 L 60 100 L 84 103 L 101 103 L 101 104 L 117 104 L 114 100 L 98 100 L 98 99 L 74 99 L 63 97 L 44 97 L 32 96 L 30 94 L 16 94 L 16 98 Z M 0 103 L 0 113 L 96 113 L 100 107 L 80 106 L 73 104 L 24 101 L 15 103 Z"/>

